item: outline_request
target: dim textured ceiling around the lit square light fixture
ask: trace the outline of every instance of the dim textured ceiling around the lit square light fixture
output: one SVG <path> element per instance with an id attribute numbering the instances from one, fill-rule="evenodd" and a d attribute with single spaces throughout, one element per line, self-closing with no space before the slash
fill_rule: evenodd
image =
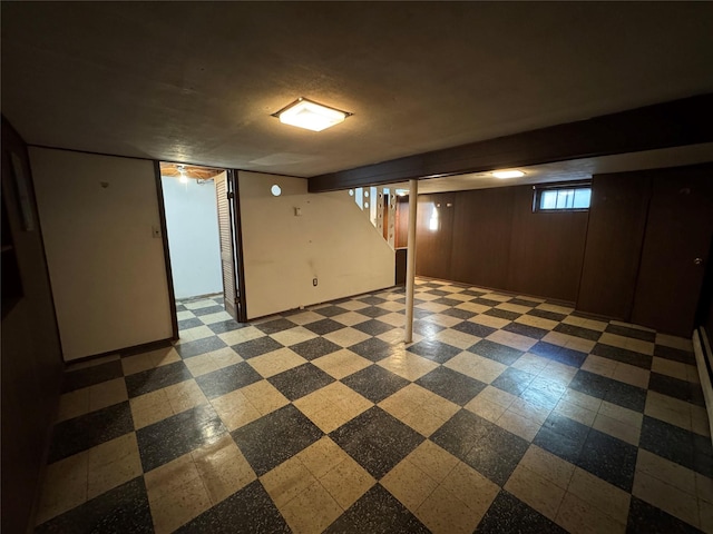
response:
<path id="1" fill-rule="evenodd" d="M 315 176 L 713 91 L 711 2 L 2 2 L 30 144 Z M 296 97 L 353 112 L 322 132 Z"/>

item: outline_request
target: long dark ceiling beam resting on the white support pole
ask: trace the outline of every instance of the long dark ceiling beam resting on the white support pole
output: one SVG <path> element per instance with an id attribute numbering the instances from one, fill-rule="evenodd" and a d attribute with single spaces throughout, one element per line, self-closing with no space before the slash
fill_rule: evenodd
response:
<path id="1" fill-rule="evenodd" d="M 713 93 L 310 178 L 310 192 L 713 141 Z"/>

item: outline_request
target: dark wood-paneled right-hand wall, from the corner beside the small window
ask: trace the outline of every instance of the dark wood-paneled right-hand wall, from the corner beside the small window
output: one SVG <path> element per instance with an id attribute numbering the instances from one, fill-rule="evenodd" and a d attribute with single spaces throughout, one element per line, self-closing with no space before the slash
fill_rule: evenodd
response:
<path id="1" fill-rule="evenodd" d="M 577 309 L 688 337 L 707 320 L 712 165 L 597 175 Z M 710 275 L 709 275 L 710 276 Z"/>

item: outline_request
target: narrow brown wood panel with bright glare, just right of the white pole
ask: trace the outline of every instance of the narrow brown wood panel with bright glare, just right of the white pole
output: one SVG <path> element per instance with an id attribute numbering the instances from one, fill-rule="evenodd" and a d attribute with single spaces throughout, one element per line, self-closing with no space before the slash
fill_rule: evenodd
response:
<path id="1" fill-rule="evenodd" d="M 453 194 L 419 195 L 416 273 L 450 280 L 453 241 Z"/>

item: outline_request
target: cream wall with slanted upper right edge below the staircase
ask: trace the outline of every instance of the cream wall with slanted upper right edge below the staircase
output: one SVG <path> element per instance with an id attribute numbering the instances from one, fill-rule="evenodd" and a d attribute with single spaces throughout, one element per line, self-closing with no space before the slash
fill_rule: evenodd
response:
<path id="1" fill-rule="evenodd" d="M 248 318 L 393 286 L 394 251 L 346 191 L 247 171 L 238 187 Z"/>

